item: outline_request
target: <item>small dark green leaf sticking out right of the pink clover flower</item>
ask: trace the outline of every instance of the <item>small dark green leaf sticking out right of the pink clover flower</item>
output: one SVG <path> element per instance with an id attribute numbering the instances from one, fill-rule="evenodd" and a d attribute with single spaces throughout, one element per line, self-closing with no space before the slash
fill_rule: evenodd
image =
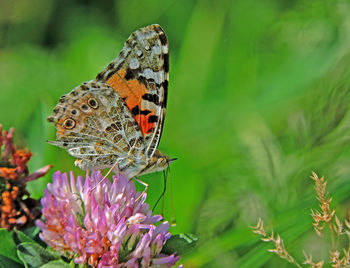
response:
<path id="1" fill-rule="evenodd" d="M 185 255 L 190 252 L 197 244 L 198 238 L 193 234 L 173 235 L 164 245 L 162 253 Z"/>

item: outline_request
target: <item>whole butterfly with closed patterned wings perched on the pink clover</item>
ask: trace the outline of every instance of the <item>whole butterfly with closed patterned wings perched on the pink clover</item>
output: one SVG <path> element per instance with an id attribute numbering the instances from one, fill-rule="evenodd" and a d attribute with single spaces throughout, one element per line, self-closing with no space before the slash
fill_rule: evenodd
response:
<path id="1" fill-rule="evenodd" d="M 83 170 L 116 167 L 129 178 L 164 170 L 157 147 L 168 96 L 169 47 L 163 29 L 133 32 L 118 57 L 94 80 L 63 95 L 47 120 L 56 141 Z"/>

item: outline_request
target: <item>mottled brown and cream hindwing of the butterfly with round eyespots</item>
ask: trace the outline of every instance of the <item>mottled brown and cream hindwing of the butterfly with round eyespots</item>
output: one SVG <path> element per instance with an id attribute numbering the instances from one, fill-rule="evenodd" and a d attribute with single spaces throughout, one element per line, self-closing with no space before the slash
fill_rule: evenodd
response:
<path id="1" fill-rule="evenodd" d="M 143 159 L 140 127 L 123 99 L 108 85 L 90 81 L 60 98 L 48 117 L 57 128 L 51 144 L 78 158 L 82 169 L 130 166 L 130 155 Z"/>

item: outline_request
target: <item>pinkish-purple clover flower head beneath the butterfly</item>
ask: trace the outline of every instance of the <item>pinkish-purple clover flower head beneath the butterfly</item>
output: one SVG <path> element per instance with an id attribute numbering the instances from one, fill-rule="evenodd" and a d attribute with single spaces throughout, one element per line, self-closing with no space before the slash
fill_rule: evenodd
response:
<path id="1" fill-rule="evenodd" d="M 71 172 L 53 175 L 41 200 L 44 221 L 37 221 L 40 237 L 59 252 L 76 256 L 75 263 L 97 267 L 136 267 L 164 264 L 179 259 L 160 254 L 171 236 L 169 223 L 152 215 L 138 198 L 134 183 L 124 175 L 103 180 L 99 171 L 87 172 L 85 179 Z M 130 250 L 132 250 L 130 252 Z M 118 256 L 124 256 L 119 263 Z"/>

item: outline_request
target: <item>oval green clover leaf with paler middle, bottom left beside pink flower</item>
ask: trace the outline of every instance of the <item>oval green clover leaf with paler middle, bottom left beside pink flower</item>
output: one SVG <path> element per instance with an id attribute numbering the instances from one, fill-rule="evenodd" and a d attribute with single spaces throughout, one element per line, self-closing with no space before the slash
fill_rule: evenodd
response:
<path id="1" fill-rule="evenodd" d="M 39 244 L 25 242 L 17 246 L 17 254 L 27 267 L 40 267 L 45 263 L 57 260 L 58 257 Z"/>

